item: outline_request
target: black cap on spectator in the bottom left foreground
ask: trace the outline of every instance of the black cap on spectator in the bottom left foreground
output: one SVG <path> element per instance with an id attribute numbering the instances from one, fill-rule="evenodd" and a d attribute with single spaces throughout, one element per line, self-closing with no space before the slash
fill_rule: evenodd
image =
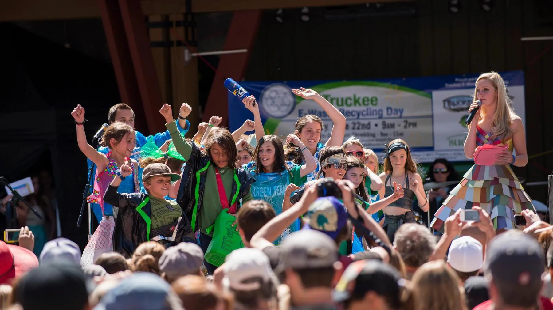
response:
<path id="1" fill-rule="evenodd" d="M 25 310 L 84 309 L 88 303 L 87 281 L 77 264 L 41 264 L 19 282 L 18 300 Z"/>

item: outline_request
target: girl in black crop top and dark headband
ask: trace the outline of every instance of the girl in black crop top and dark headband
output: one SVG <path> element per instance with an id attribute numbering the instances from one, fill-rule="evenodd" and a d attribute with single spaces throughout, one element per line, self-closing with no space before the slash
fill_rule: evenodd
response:
<path id="1" fill-rule="evenodd" d="M 419 202 L 422 211 L 429 210 L 422 179 L 416 172 L 416 163 L 411 157 L 409 146 L 405 141 L 396 139 L 388 143 L 384 149 L 384 172 L 379 175 L 384 186 L 378 192 L 380 197 L 387 197 L 393 194 L 393 183 L 403 186 L 403 198 L 400 198 L 387 207 L 384 207 L 384 230 L 388 238 L 393 242 L 394 234 L 403 223 L 415 222 L 413 214 L 413 200 Z M 421 203 L 422 202 L 422 203 Z"/>

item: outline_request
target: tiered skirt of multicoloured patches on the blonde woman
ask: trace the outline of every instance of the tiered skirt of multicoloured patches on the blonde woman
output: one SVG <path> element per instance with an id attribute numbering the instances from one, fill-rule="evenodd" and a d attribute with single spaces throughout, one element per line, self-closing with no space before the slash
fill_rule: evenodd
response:
<path id="1" fill-rule="evenodd" d="M 509 165 L 473 165 L 435 213 L 432 228 L 441 230 L 447 217 L 473 206 L 488 212 L 496 230 L 512 229 L 513 216 L 524 209 L 535 211 Z"/>

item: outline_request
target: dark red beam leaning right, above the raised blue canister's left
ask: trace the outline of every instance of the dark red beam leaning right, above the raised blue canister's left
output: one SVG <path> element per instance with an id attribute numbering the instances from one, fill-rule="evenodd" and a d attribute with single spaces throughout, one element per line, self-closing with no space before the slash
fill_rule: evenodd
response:
<path id="1" fill-rule="evenodd" d="M 234 12 L 223 50 L 247 49 L 248 52 L 221 55 L 217 72 L 213 78 L 213 84 L 207 97 L 202 117 L 203 121 L 208 121 L 212 115 L 216 115 L 223 117 L 223 126 L 228 124 L 228 90 L 223 87 L 223 82 L 228 77 L 232 77 L 236 81 L 241 81 L 244 78 L 248 58 L 259 28 L 261 14 L 260 10 Z"/>

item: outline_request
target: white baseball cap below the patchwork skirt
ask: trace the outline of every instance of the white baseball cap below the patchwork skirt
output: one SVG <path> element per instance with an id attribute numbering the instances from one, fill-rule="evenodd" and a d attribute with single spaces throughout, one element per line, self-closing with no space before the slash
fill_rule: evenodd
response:
<path id="1" fill-rule="evenodd" d="M 471 236 L 463 236 L 451 242 L 447 263 L 461 272 L 472 272 L 482 268 L 484 255 L 482 243 Z"/>

